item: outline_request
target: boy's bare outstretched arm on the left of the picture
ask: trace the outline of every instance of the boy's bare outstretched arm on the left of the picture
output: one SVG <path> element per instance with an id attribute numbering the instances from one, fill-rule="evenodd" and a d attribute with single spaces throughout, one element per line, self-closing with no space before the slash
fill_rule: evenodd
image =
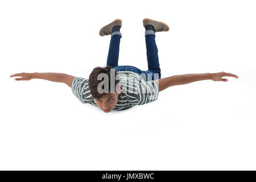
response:
<path id="1" fill-rule="evenodd" d="M 55 81 L 55 82 L 63 82 L 71 87 L 71 83 L 75 76 L 67 75 L 65 73 L 16 73 L 11 75 L 10 77 L 20 77 L 15 78 L 15 80 L 31 80 L 33 78 Z"/>

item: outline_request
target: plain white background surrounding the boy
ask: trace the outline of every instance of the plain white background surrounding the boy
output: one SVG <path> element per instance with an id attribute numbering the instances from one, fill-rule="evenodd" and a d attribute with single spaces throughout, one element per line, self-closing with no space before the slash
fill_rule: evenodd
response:
<path id="1" fill-rule="evenodd" d="M 255 1 L 0 1 L 0 169 L 256 169 Z M 104 113 L 65 84 L 19 72 L 88 78 L 106 64 L 120 18 L 119 65 L 147 69 L 143 18 L 156 32 L 162 78 L 229 72 L 228 82 L 172 86 L 147 105 Z"/>

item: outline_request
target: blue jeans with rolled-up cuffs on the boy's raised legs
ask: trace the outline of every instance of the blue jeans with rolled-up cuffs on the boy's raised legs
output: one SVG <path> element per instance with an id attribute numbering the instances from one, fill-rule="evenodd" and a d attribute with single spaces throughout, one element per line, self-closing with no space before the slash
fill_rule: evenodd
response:
<path id="1" fill-rule="evenodd" d="M 145 31 L 146 48 L 147 48 L 147 71 L 131 65 L 118 66 L 119 45 L 122 38 L 121 32 L 113 32 L 110 40 L 107 65 L 114 68 L 115 71 L 131 71 L 138 73 L 145 81 L 157 80 L 161 78 L 161 69 L 159 67 L 158 48 L 155 43 L 155 32 L 152 30 Z"/>

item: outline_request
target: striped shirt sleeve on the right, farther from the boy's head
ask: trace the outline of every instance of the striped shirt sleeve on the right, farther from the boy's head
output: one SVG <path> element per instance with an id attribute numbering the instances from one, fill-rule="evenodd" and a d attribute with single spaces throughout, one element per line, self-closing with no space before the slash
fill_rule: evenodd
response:
<path id="1" fill-rule="evenodd" d="M 142 81 L 138 84 L 138 105 L 148 104 L 158 99 L 159 88 L 158 82 L 152 81 Z"/>

